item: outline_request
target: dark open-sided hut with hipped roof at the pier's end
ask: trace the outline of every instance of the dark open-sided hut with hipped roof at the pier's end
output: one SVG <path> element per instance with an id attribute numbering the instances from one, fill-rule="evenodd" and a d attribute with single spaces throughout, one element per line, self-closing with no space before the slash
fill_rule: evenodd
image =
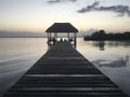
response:
<path id="1" fill-rule="evenodd" d="M 72 37 L 72 41 L 76 45 L 76 39 L 77 39 L 77 33 L 78 29 L 74 27 L 70 23 L 54 23 L 52 26 L 50 26 L 46 33 L 48 33 L 48 43 L 50 41 L 56 41 L 57 40 L 57 34 L 67 34 L 68 41 L 70 40 L 70 33 L 74 34 Z M 52 37 L 52 34 L 54 36 Z"/>

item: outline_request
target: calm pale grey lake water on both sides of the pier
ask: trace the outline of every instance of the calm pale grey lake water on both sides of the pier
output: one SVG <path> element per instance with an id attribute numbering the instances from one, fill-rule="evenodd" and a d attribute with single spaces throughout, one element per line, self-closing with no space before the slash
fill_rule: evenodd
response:
<path id="1" fill-rule="evenodd" d="M 48 49 L 46 38 L 0 39 L 0 97 Z M 130 41 L 83 41 L 77 50 L 130 95 Z"/>

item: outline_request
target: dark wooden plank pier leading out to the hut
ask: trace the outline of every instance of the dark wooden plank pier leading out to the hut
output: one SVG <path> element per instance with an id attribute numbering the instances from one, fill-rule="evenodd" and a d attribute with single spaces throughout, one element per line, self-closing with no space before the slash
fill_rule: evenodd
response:
<path id="1" fill-rule="evenodd" d="M 67 41 L 56 43 L 4 97 L 128 97 Z"/>

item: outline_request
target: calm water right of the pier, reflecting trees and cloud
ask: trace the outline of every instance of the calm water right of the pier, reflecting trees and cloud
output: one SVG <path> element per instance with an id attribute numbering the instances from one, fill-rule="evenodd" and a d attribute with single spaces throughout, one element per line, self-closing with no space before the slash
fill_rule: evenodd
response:
<path id="1" fill-rule="evenodd" d="M 130 41 L 78 43 L 78 50 L 130 96 Z"/>

